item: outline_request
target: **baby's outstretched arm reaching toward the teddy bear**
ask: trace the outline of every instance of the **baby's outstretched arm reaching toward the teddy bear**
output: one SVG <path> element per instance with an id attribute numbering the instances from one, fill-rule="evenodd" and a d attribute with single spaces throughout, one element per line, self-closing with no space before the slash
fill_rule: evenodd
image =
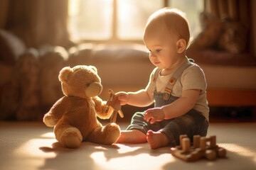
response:
<path id="1" fill-rule="evenodd" d="M 137 92 L 119 92 L 116 94 L 121 105 L 129 104 L 132 106 L 149 106 L 153 103 L 154 98 L 151 98 L 149 92 L 142 89 Z"/>

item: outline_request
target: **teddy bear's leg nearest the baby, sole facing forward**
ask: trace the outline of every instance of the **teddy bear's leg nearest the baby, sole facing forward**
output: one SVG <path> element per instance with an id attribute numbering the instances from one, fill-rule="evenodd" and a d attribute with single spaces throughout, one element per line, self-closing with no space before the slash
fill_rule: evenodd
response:
<path id="1" fill-rule="evenodd" d="M 120 136 L 120 128 L 116 123 L 95 128 L 87 137 L 87 141 L 98 144 L 112 145 Z"/>

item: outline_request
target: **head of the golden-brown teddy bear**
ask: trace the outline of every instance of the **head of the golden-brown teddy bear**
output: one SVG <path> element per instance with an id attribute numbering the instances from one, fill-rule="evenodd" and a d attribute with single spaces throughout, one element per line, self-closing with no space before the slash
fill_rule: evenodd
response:
<path id="1" fill-rule="evenodd" d="M 59 80 L 65 96 L 90 98 L 98 96 L 102 91 L 100 77 L 94 66 L 64 67 L 60 70 Z"/>

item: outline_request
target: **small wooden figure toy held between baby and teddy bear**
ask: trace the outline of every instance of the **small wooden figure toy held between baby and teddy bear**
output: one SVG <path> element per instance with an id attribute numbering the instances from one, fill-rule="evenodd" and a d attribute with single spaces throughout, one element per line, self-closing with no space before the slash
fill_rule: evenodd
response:
<path id="1" fill-rule="evenodd" d="M 117 99 L 117 95 L 114 94 L 112 89 L 109 89 L 110 99 L 107 101 L 106 113 L 112 112 L 110 123 L 115 123 L 117 121 L 117 113 L 119 113 L 121 118 L 124 118 L 124 114 L 121 111 L 121 105 Z"/>

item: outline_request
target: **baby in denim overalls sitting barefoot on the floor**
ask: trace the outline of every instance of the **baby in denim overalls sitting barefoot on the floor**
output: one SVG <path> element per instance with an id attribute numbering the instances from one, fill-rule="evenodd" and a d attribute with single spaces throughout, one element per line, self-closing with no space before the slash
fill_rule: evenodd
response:
<path id="1" fill-rule="evenodd" d="M 156 68 L 146 89 L 117 93 L 121 105 L 154 108 L 137 112 L 118 143 L 149 142 L 151 149 L 179 144 L 179 135 L 206 136 L 208 102 L 203 70 L 188 60 L 190 42 L 188 21 L 183 12 L 162 8 L 149 17 L 144 44 Z"/>

